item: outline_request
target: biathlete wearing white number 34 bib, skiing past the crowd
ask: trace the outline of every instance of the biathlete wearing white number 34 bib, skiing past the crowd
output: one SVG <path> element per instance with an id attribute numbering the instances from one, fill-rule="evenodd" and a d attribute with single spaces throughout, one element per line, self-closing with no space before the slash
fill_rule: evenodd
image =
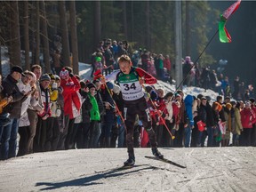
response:
<path id="1" fill-rule="evenodd" d="M 116 70 L 112 74 L 105 76 L 102 82 L 106 83 L 112 80 L 118 82 L 123 94 L 126 145 L 129 156 L 127 161 L 124 162 L 124 166 L 132 166 L 135 164 L 133 129 L 136 115 L 139 115 L 140 121 L 148 132 L 153 155 L 158 158 L 164 158 L 157 149 L 156 133 L 152 128 L 149 109 L 142 87 L 142 84 L 156 84 L 156 78 L 149 75 L 141 68 L 132 67 L 132 61 L 127 55 L 122 55 L 118 58 L 117 62 L 120 70 Z"/>

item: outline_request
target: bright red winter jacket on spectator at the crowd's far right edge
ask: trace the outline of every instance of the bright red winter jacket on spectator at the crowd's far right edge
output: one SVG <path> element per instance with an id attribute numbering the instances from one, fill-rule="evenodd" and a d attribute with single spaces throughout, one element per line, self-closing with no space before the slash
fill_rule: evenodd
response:
<path id="1" fill-rule="evenodd" d="M 244 108 L 241 112 L 241 123 L 244 129 L 252 129 L 252 124 L 255 123 L 256 116 L 251 108 Z"/>

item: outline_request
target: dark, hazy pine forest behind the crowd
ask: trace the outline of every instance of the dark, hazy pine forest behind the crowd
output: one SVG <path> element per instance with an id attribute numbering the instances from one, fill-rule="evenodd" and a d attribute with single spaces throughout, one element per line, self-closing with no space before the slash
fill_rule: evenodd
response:
<path id="1" fill-rule="evenodd" d="M 181 2 L 183 58 L 196 60 L 218 29 L 220 13 L 234 2 Z M 221 44 L 215 36 L 201 67 L 218 68 L 219 60 L 228 60 L 225 76 L 255 84 L 255 8 L 256 2 L 242 1 L 227 24 L 232 43 Z M 40 63 L 50 72 L 56 35 L 61 36 L 61 64 L 76 73 L 78 60 L 90 63 L 104 38 L 127 41 L 130 52 L 169 54 L 172 68 L 180 65 L 175 63 L 175 1 L 1 1 L 0 13 L 0 44 L 8 48 L 11 65 L 29 69 Z"/>

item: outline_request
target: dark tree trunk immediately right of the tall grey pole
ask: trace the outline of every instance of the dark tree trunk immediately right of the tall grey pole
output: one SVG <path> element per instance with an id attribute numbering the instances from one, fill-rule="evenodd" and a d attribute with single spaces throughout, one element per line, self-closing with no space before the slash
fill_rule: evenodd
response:
<path id="1" fill-rule="evenodd" d="M 190 2 L 186 1 L 186 41 L 185 41 L 185 51 L 187 55 L 191 54 L 191 38 L 190 38 Z"/>

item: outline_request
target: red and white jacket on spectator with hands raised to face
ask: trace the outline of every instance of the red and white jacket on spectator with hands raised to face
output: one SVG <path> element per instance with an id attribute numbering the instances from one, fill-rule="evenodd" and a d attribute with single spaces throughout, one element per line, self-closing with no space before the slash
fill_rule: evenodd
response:
<path id="1" fill-rule="evenodd" d="M 76 76 L 72 76 L 68 81 L 61 79 L 60 86 L 63 88 L 64 97 L 64 115 L 69 116 L 69 119 L 75 118 L 74 112 L 80 113 L 81 100 L 78 95 L 80 84 Z"/>

